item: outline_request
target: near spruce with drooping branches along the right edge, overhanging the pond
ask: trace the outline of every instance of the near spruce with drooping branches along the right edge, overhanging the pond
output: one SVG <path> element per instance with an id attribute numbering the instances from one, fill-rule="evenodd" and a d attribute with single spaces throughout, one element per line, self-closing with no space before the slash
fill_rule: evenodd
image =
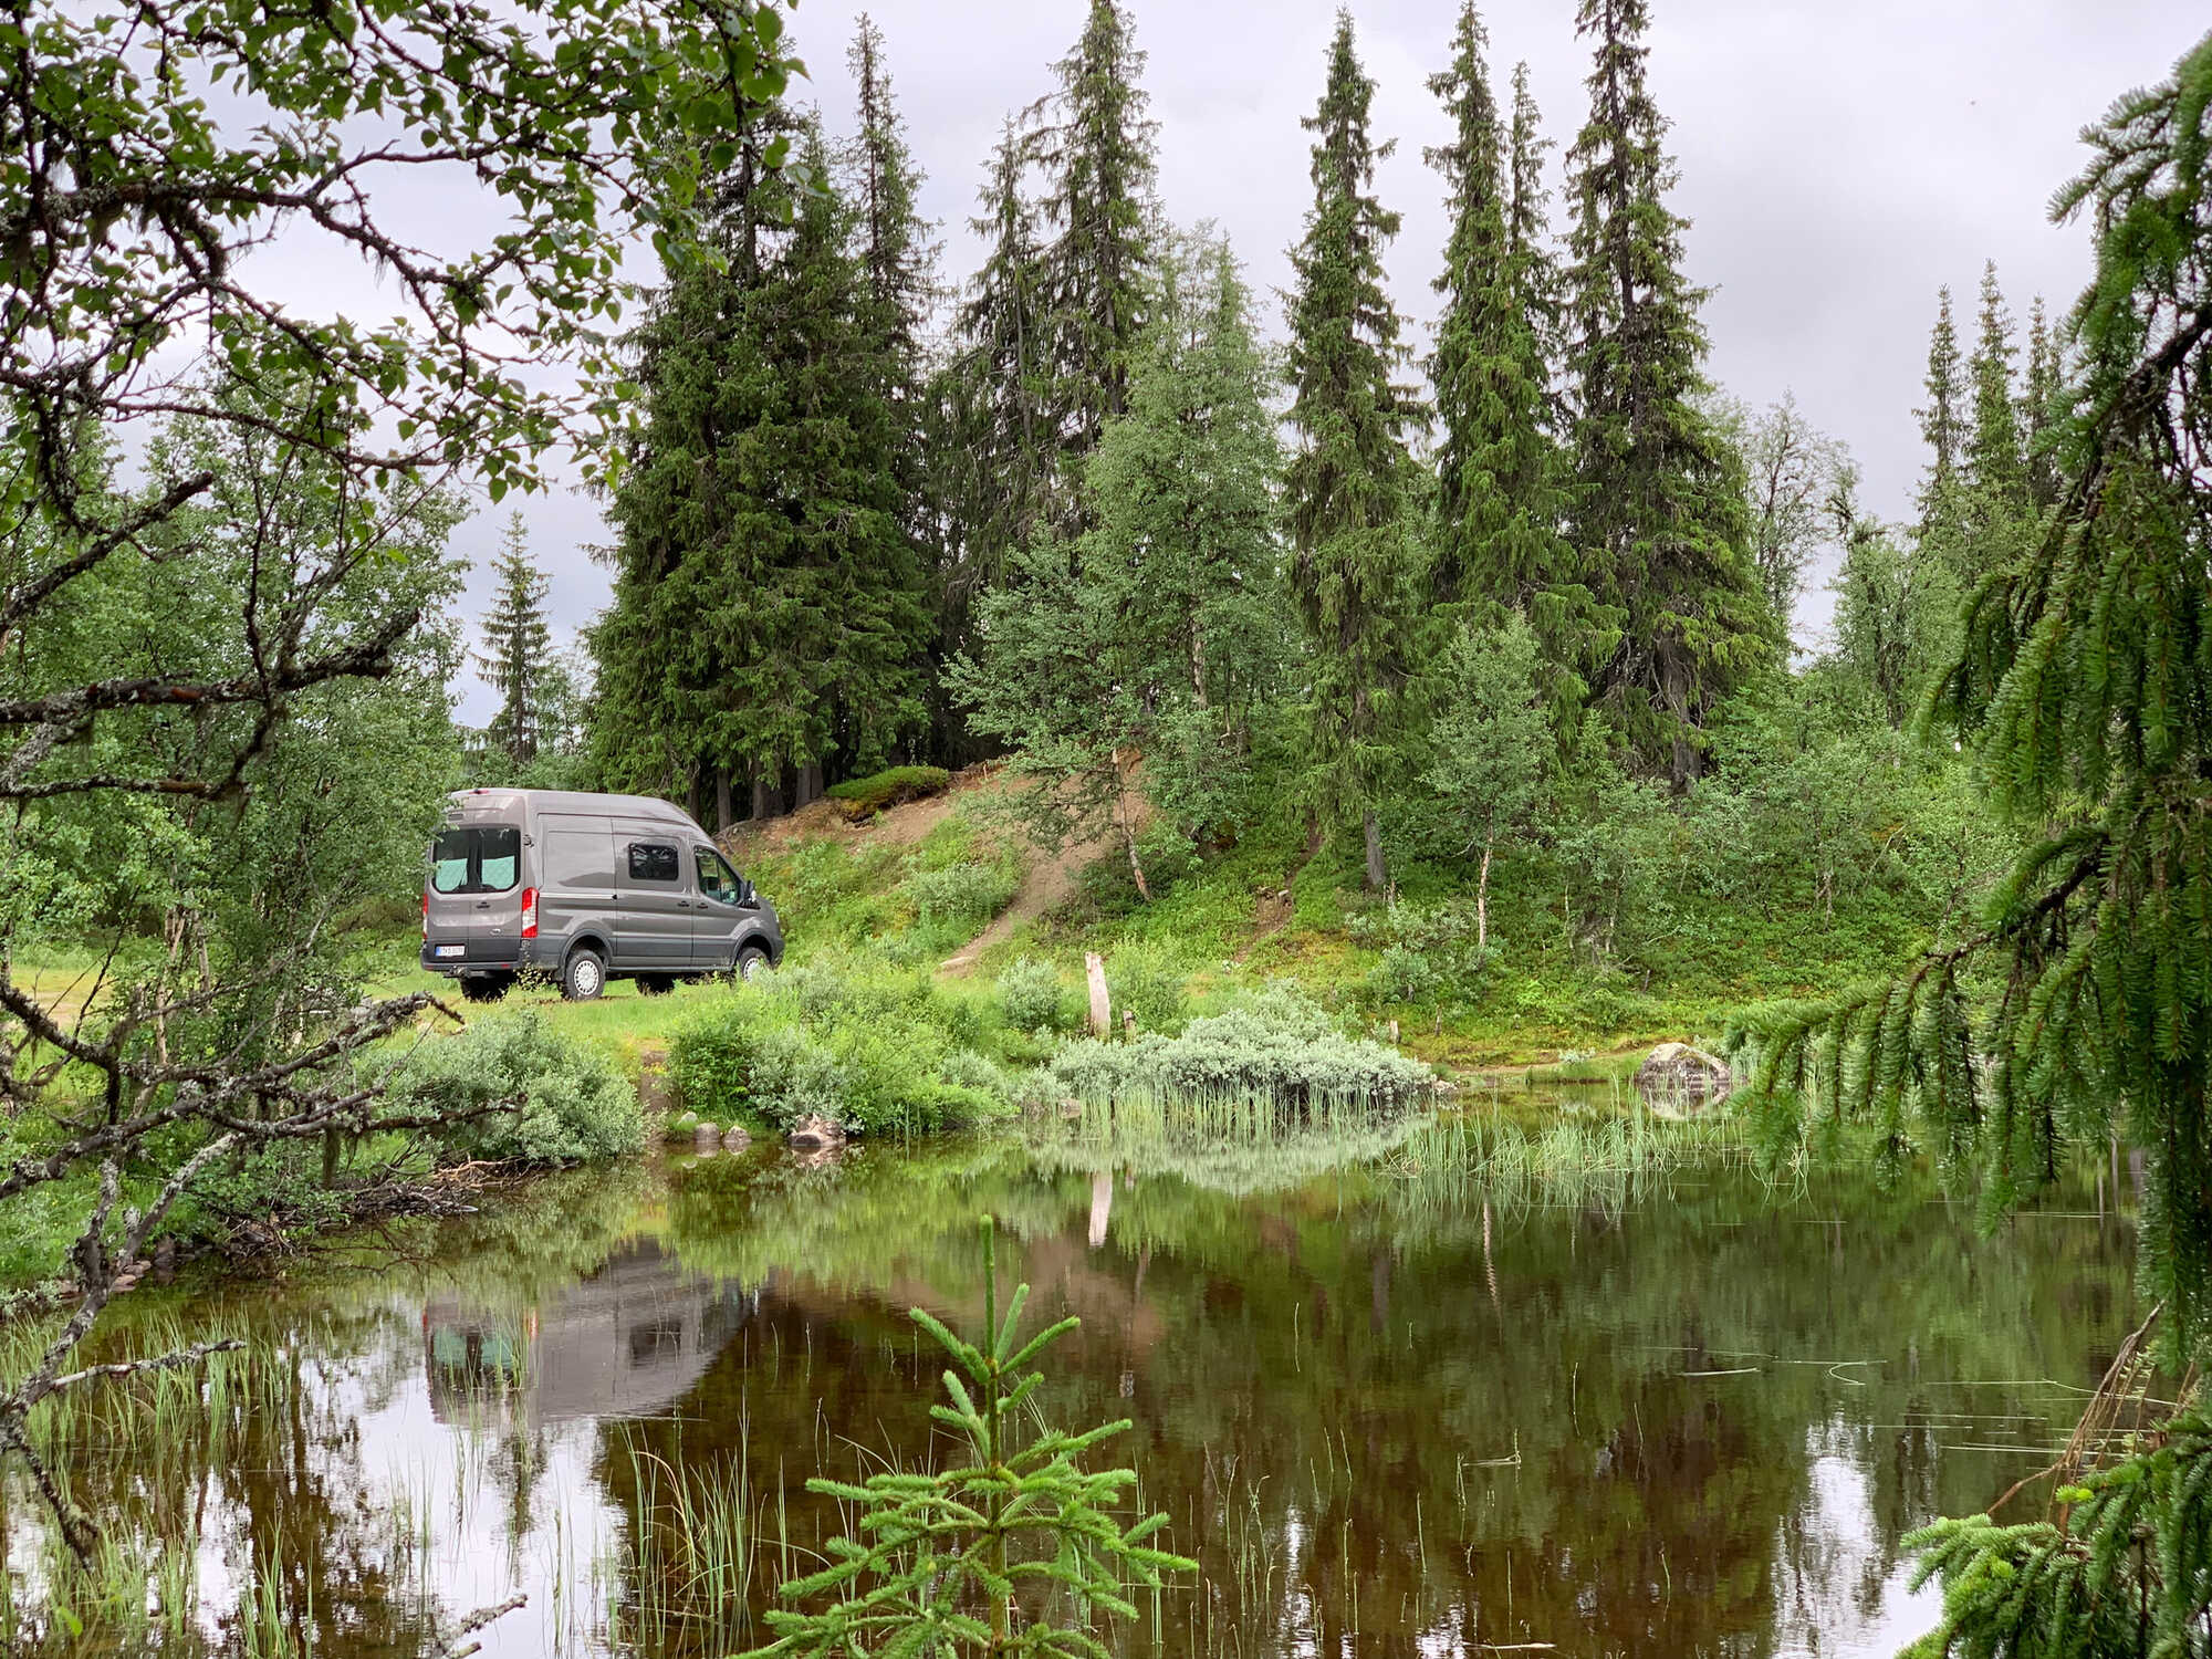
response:
<path id="1" fill-rule="evenodd" d="M 2033 836 L 1982 925 L 1907 975 L 1772 1011 L 1741 1035 L 1752 1093 L 1858 1113 L 1980 1166 L 2008 1208 L 2117 1144 L 2141 1148 L 2143 1296 L 2168 1371 L 2212 1354 L 2212 35 L 2086 135 L 2055 215 L 2086 212 L 2059 498 L 1975 593 L 1938 717 L 1991 805 Z M 1794 1099 L 1792 1099 L 1794 1095 Z M 2075 1464 L 2079 1467 L 2079 1464 Z M 2190 1407 L 2055 1491 L 2055 1520 L 1940 1522 L 1916 1652 L 2199 1652 L 2212 1425 Z"/>

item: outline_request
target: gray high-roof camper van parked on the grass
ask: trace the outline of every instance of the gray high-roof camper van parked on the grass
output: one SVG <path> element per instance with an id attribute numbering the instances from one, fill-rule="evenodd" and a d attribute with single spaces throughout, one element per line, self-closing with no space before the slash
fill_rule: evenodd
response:
<path id="1" fill-rule="evenodd" d="M 467 998 L 540 971 L 562 995 L 783 960 L 776 907 L 688 814 L 644 794 L 456 790 L 422 876 L 422 967 Z"/>

